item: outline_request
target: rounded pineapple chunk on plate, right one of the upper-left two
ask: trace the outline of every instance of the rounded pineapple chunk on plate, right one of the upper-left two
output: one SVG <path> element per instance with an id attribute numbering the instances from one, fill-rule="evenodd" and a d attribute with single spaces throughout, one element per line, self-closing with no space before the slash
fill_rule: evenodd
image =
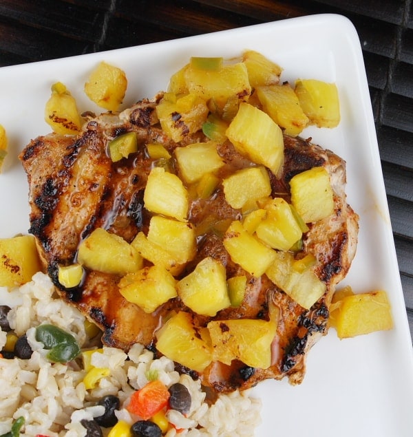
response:
<path id="1" fill-rule="evenodd" d="M 116 111 L 123 102 L 127 89 L 126 74 L 120 68 L 102 61 L 85 83 L 87 97 L 109 111 Z"/>

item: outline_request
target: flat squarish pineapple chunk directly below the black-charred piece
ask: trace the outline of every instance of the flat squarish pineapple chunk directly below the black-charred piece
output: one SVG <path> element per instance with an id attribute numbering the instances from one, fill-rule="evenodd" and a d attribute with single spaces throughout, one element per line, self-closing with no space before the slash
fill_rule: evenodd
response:
<path id="1" fill-rule="evenodd" d="M 177 147 L 175 156 L 180 174 L 185 182 L 191 184 L 206 173 L 213 173 L 224 165 L 213 141 L 196 142 L 186 147 Z"/>

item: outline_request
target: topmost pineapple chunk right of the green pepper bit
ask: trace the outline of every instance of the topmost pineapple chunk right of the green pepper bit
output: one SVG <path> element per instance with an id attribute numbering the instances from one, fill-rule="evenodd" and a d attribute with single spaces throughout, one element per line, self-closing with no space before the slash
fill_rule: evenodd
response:
<path id="1" fill-rule="evenodd" d="M 263 54 L 255 50 L 246 50 L 242 56 L 242 62 L 246 65 L 251 87 L 273 85 L 279 82 L 282 68 Z"/>

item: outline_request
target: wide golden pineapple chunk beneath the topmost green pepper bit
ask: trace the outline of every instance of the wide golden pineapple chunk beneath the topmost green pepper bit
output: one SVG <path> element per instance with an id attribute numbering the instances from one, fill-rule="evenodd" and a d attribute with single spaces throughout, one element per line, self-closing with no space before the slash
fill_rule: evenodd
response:
<path id="1" fill-rule="evenodd" d="M 231 96 L 242 100 L 251 94 L 244 63 L 224 65 L 218 70 L 200 70 L 190 65 L 184 75 L 190 93 L 205 101 L 213 99 L 221 109 Z"/>

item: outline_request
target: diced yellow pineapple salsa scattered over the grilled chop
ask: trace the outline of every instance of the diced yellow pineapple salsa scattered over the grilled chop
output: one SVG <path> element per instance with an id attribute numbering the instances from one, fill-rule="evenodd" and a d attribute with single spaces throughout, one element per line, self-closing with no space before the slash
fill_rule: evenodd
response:
<path id="1" fill-rule="evenodd" d="M 266 275 L 299 306 L 310 309 L 326 292 L 326 284 L 313 270 L 315 256 L 296 255 L 302 253 L 308 224 L 334 211 L 329 174 L 324 167 L 302 171 L 291 178 L 285 193 L 273 193 L 271 180 L 283 169 L 284 134 L 298 136 L 308 125 L 337 126 L 339 98 L 333 83 L 299 79 L 293 86 L 280 83 L 281 73 L 279 65 L 248 50 L 231 62 L 193 57 L 173 74 L 169 89 L 160 94 L 156 117 L 178 146 L 170 150 L 160 143 L 145 145 L 153 160 L 143 197 L 151 216 L 147 230 L 126 242 L 96 228 L 78 247 L 76 263 L 59 268 L 62 286 L 76 287 L 85 269 L 97 270 L 118 275 L 121 295 L 147 313 L 180 299 L 196 315 L 211 318 L 228 308 L 248 306 L 248 280 Z M 109 102 L 105 108 L 115 111 L 125 95 L 125 74 L 102 63 L 92 76 L 85 92 L 98 105 Z M 76 101 L 61 83 L 52 87 L 45 120 L 63 134 L 81 131 Z M 197 134 L 200 140 L 185 141 Z M 136 134 L 128 132 L 110 141 L 107 151 L 118 162 L 138 147 Z M 228 148 L 235 150 L 236 160 L 226 160 Z M 193 220 L 196 205 L 208 204 L 218 191 L 233 211 L 231 217 Z M 210 229 L 220 235 L 242 275 L 228 277 L 219 257 L 199 260 L 198 241 Z M 12 244 L 2 244 L 3 252 L 14 255 Z M 37 270 L 38 264 L 32 265 Z M 34 273 L 30 266 L 22 266 L 20 273 L 26 269 L 25 278 Z M 21 277 L 1 264 L 0 282 L 21 284 Z M 360 332 L 352 317 L 343 321 L 351 313 L 344 308 L 354 309 L 348 296 L 343 299 L 346 305 L 335 306 L 335 326 L 346 326 L 342 337 L 352 337 Z M 369 306 L 374 302 L 383 308 L 383 299 L 368 299 Z M 173 311 L 155 333 L 156 348 L 196 372 L 215 361 L 233 360 L 266 369 L 279 312 L 274 306 L 268 315 L 268 320 L 211 320 L 200 328 L 194 326 L 191 312 Z M 387 324 L 374 319 L 361 333 L 390 328 L 390 316 L 386 317 L 380 320 Z"/>

